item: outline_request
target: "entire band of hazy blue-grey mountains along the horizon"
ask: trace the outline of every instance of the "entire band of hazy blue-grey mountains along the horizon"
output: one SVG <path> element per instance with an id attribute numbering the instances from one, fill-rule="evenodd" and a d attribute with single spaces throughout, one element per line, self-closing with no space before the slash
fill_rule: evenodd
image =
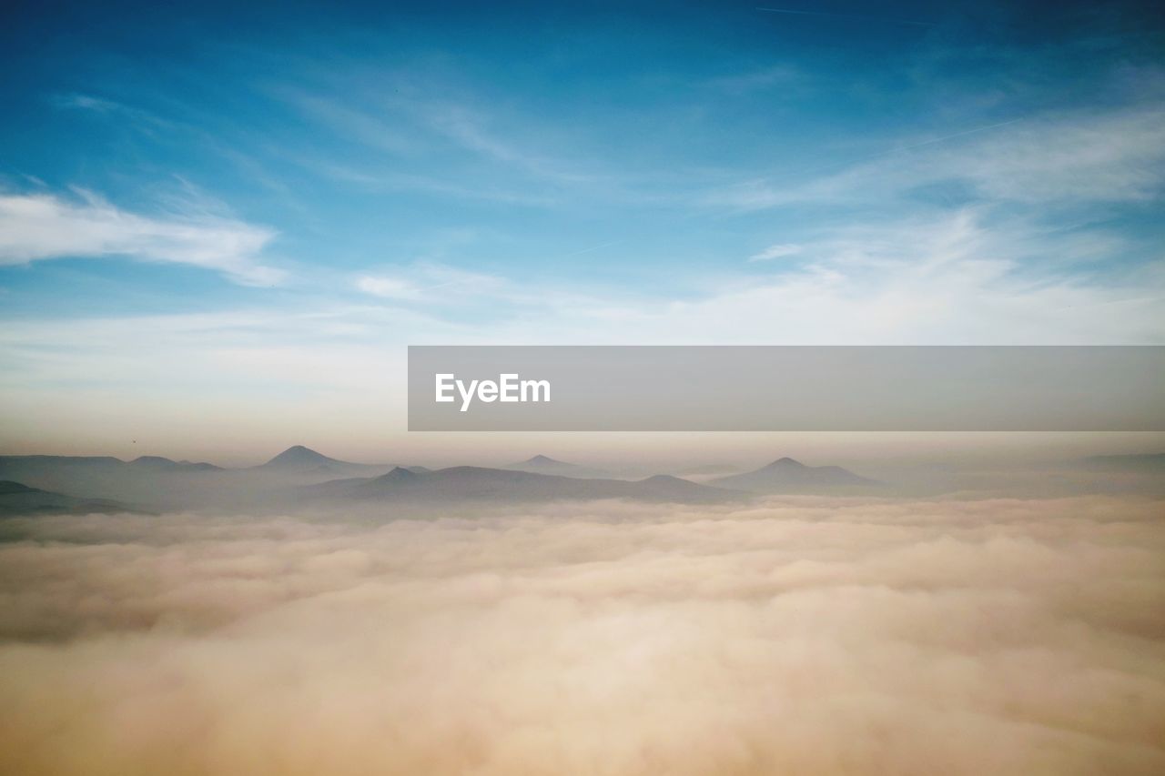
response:
<path id="1" fill-rule="evenodd" d="M 650 470 L 640 470 L 643 473 Z M 807 466 L 778 458 L 757 470 L 720 475 L 725 466 L 685 470 L 691 479 L 656 474 L 620 479 L 606 471 L 546 456 L 499 468 L 358 464 L 294 445 L 256 466 L 141 456 L 0 456 L 0 515 L 50 512 L 160 513 L 198 509 L 249 514 L 294 513 L 316 506 L 384 503 L 501 503 L 630 499 L 707 503 L 767 494 L 904 495 L 952 492 L 1162 493 L 1165 454 L 1099 456 L 1028 470 L 899 471 L 888 486 L 840 466 Z M 911 480 L 910 477 L 915 477 Z M 693 481 L 694 480 L 694 481 Z"/>

